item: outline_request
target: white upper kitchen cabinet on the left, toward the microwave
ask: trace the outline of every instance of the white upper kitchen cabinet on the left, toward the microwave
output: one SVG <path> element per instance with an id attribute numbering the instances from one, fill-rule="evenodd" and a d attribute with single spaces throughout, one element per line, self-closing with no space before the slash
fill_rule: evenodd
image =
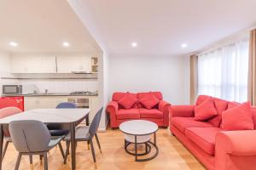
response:
<path id="1" fill-rule="evenodd" d="M 12 56 L 12 73 L 56 73 L 55 56 Z"/>

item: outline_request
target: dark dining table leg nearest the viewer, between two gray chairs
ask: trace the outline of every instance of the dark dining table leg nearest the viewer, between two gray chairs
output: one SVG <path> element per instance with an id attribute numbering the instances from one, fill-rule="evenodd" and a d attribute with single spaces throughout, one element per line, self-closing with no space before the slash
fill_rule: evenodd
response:
<path id="1" fill-rule="evenodd" d="M 72 161 L 72 170 L 76 169 L 76 142 L 75 142 L 75 124 L 72 122 L 70 124 L 70 135 L 71 135 L 71 161 Z"/>

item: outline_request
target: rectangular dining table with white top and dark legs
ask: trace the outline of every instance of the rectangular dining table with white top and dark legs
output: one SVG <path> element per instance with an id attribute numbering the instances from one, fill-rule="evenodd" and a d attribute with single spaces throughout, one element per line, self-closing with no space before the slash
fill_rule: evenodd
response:
<path id="1" fill-rule="evenodd" d="M 46 125 L 54 123 L 60 124 L 61 128 L 67 129 L 71 136 L 71 165 L 72 170 L 76 169 L 76 153 L 75 153 L 75 127 L 80 122 L 86 121 L 89 125 L 90 109 L 35 109 L 24 111 L 13 116 L 0 119 L 0 156 L 3 155 L 3 133 L 9 128 L 9 122 L 36 120 L 44 122 Z M 0 159 L 0 170 L 2 170 L 2 159 Z"/>

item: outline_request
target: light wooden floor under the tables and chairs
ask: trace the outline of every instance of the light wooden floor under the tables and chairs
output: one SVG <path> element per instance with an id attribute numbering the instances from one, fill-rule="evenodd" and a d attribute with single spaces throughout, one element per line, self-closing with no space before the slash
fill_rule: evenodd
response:
<path id="1" fill-rule="evenodd" d="M 109 129 L 106 133 L 99 133 L 102 144 L 102 154 L 97 148 L 96 142 L 96 161 L 97 170 L 187 170 L 205 169 L 199 161 L 192 156 L 188 150 L 183 147 L 176 137 L 173 137 L 167 129 L 160 129 L 157 132 L 157 145 L 159 146 L 159 155 L 151 161 L 136 162 L 134 156 L 128 155 L 124 150 L 124 136 L 118 130 Z M 65 145 L 64 143 L 62 145 Z M 143 149 L 143 146 L 140 147 Z M 6 156 L 3 160 L 3 170 L 13 170 L 15 168 L 17 152 L 13 144 L 9 144 Z M 38 156 L 33 158 L 33 169 L 44 169 L 40 165 Z M 62 164 L 60 150 L 54 148 L 49 152 L 49 170 L 69 170 L 70 161 L 67 165 Z M 20 170 L 30 169 L 27 156 L 21 159 Z M 77 169 L 95 170 L 90 150 L 87 144 L 79 143 L 77 149 Z"/>

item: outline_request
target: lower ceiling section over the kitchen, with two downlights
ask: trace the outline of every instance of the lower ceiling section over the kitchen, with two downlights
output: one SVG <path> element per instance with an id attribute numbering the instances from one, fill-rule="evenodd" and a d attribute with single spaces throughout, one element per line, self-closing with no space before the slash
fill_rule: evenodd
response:
<path id="1" fill-rule="evenodd" d="M 98 52 L 101 49 L 65 0 L 0 2 L 0 49 L 14 53 Z M 10 47 L 9 42 L 19 43 Z M 65 48 L 62 42 L 69 42 Z"/>

